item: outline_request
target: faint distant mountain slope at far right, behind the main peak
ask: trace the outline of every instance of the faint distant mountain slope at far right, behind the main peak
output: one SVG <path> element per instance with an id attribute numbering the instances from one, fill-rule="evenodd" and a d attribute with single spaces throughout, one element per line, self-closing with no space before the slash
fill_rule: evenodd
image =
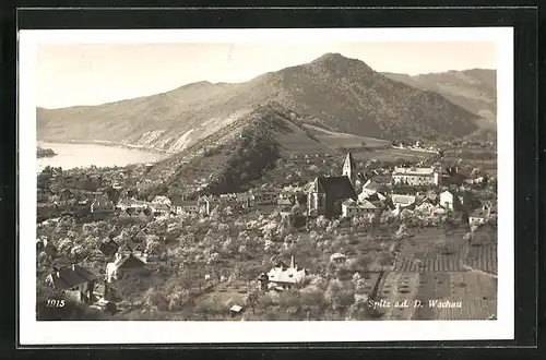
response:
<path id="1" fill-rule="evenodd" d="M 387 77 L 410 86 L 437 92 L 464 109 L 488 121 L 479 122 L 482 128 L 495 128 L 497 123 L 497 71 L 471 69 L 447 71 L 415 76 L 383 73 Z"/>

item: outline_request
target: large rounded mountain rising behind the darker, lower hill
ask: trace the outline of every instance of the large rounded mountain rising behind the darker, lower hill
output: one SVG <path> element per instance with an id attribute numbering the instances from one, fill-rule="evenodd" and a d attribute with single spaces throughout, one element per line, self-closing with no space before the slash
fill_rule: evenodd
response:
<path id="1" fill-rule="evenodd" d="M 436 92 L 393 81 L 360 60 L 327 53 L 239 84 L 200 82 L 99 106 L 38 108 L 37 136 L 176 153 L 272 103 L 298 113 L 304 123 L 387 140 L 458 139 L 475 132 L 483 121 Z"/>

